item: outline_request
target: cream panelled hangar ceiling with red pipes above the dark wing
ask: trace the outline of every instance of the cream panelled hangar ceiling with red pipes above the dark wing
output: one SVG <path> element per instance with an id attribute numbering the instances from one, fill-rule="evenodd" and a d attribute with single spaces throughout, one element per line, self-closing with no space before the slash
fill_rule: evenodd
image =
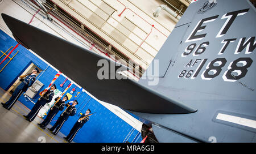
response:
<path id="1" fill-rule="evenodd" d="M 46 0 L 43 5 L 72 31 L 104 48 L 102 53 L 133 67 L 133 75 L 139 79 L 189 3 L 190 0 Z M 160 5 L 167 5 L 175 16 L 162 11 L 155 18 L 152 14 Z"/>

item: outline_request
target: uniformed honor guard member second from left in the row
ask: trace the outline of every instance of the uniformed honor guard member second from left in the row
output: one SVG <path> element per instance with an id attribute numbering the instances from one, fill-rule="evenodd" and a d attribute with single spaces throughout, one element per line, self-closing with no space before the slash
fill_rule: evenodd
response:
<path id="1" fill-rule="evenodd" d="M 39 110 L 46 105 L 46 103 L 52 101 L 52 97 L 54 96 L 54 90 L 56 89 L 56 85 L 53 84 L 52 87 L 44 93 L 43 96 L 41 96 L 36 104 L 33 106 L 31 109 L 31 112 L 28 113 L 27 115 L 23 115 L 23 117 L 26 118 L 27 121 L 31 122 L 35 119 L 36 115 L 38 115 Z"/>

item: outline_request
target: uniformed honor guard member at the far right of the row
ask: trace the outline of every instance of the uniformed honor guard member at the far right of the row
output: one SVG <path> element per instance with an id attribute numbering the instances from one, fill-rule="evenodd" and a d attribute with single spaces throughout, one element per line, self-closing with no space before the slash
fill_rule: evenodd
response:
<path id="1" fill-rule="evenodd" d="M 72 127 L 68 136 L 64 137 L 64 139 L 66 139 L 68 142 L 72 142 L 73 138 L 75 138 L 77 132 L 81 129 L 81 127 L 84 126 L 84 124 L 89 121 L 90 117 L 86 116 L 89 113 L 90 113 L 90 109 L 86 110 L 85 114 L 81 115 L 81 117 L 78 119 L 78 121 Z"/>

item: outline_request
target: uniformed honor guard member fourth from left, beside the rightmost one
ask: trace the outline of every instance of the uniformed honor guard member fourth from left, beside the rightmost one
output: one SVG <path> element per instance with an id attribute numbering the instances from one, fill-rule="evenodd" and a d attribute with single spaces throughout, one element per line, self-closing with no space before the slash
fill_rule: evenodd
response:
<path id="1" fill-rule="evenodd" d="M 77 104 L 78 104 L 77 100 L 66 104 L 66 106 L 68 106 L 67 109 L 65 109 L 64 112 L 60 114 L 60 117 L 57 119 L 53 127 L 51 127 L 51 129 L 48 129 L 49 131 L 52 131 L 53 135 L 56 135 L 60 131 L 61 127 L 63 126 L 64 122 L 68 120 L 69 116 L 73 116 L 76 114 L 75 106 Z M 53 132 L 54 130 L 55 132 Z"/>

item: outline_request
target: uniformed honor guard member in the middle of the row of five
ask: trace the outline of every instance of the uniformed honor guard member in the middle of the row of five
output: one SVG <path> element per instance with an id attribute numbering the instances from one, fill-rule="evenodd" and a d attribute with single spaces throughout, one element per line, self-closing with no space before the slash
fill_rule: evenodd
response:
<path id="1" fill-rule="evenodd" d="M 59 97 L 57 97 L 55 99 L 55 101 L 57 101 L 59 99 Z M 55 117 L 55 115 L 60 111 L 63 110 L 65 107 L 65 101 L 68 100 L 68 96 L 65 95 L 63 97 L 63 99 L 59 100 L 58 102 L 55 103 L 55 105 L 52 106 L 52 108 L 49 110 L 49 113 L 47 114 L 46 119 L 44 119 L 44 121 L 42 123 L 38 123 L 38 125 L 42 128 L 42 129 L 46 129 L 46 127 L 49 125 L 49 123 L 51 123 L 52 119 Z"/>

